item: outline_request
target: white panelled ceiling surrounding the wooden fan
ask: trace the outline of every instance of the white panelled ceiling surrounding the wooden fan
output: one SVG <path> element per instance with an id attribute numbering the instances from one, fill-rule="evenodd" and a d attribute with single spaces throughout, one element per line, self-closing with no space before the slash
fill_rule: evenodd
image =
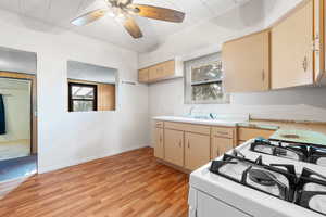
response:
<path id="1" fill-rule="evenodd" d="M 110 16 L 84 27 L 70 24 L 71 20 L 87 11 L 105 7 L 104 0 L 0 0 L 0 8 L 138 52 L 146 52 L 163 42 L 168 35 L 215 17 L 248 1 L 250 0 L 134 0 L 135 3 L 165 7 L 186 13 L 186 18 L 181 24 L 137 17 L 145 35 L 143 38 L 137 40 L 133 39 L 121 24 Z"/>

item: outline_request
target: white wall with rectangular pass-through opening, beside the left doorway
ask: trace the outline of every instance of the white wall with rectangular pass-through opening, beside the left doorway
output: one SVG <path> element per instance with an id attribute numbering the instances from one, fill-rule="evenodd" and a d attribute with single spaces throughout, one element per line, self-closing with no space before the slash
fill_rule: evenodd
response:
<path id="1" fill-rule="evenodd" d="M 66 61 L 113 67 L 137 80 L 137 53 L 0 11 L 0 46 L 37 53 L 39 171 L 145 146 L 148 87 L 117 86 L 117 111 L 67 112 Z"/>

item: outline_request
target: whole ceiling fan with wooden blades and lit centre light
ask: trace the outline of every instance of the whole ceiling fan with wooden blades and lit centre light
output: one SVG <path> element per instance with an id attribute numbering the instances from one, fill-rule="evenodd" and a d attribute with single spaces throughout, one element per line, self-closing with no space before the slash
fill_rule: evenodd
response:
<path id="1" fill-rule="evenodd" d="M 76 26 L 84 26 L 93 21 L 103 17 L 106 14 L 115 17 L 123 24 L 126 30 L 134 38 L 141 38 L 142 33 L 137 25 L 133 15 L 138 15 L 147 18 L 154 18 L 166 22 L 181 23 L 185 18 L 185 13 L 172 9 L 152 7 L 147 4 L 134 4 L 133 0 L 104 0 L 108 8 L 98 9 L 88 12 L 72 21 Z"/>

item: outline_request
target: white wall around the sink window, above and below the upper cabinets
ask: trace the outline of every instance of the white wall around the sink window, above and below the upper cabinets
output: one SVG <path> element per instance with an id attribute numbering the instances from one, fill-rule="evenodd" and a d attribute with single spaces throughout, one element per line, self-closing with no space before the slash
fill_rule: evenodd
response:
<path id="1" fill-rule="evenodd" d="M 140 54 L 139 67 L 178 56 L 181 60 L 216 52 L 224 41 L 271 26 L 301 0 L 252 0 L 190 29 L 171 36 L 156 50 Z M 250 113 L 253 118 L 326 122 L 326 88 L 293 88 L 263 93 L 231 94 L 230 104 L 199 104 L 198 111 L 223 114 Z M 150 85 L 150 118 L 183 115 L 192 105 L 185 104 L 184 80 Z"/>

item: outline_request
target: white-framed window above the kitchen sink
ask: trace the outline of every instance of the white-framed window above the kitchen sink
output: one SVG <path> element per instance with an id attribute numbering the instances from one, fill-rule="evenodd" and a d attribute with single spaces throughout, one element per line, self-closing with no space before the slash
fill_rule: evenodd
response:
<path id="1" fill-rule="evenodd" d="M 186 103 L 228 103 L 223 89 L 221 53 L 185 62 Z"/>

